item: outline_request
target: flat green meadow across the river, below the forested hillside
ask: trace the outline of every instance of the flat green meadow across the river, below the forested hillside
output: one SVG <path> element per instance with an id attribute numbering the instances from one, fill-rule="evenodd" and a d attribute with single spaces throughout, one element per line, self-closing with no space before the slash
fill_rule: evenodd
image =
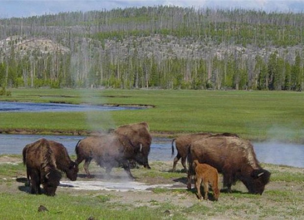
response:
<path id="1" fill-rule="evenodd" d="M 148 105 L 144 110 L 0 113 L 1 131 L 107 130 L 147 121 L 155 135 L 234 132 L 247 139 L 304 142 L 304 93 L 287 91 L 11 89 L 0 101 Z"/>

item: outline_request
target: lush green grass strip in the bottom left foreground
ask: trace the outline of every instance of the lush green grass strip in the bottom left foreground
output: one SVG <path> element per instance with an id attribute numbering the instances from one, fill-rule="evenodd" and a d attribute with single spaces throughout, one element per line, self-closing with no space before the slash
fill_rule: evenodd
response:
<path id="1" fill-rule="evenodd" d="M 88 219 L 127 219 L 140 220 L 155 218 L 161 219 L 162 212 L 148 207 L 132 207 L 123 204 L 112 204 L 103 201 L 99 197 L 72 196 L 60 194 L 55 197 L 44 195 L 35 196 L 29 194 L 10 195 L 0 193 L 1 199 L 1 219 L 66 219 L 78 220 Z M 39 205 L 47 207 L 48 212 L 38 212 Z M 7 210 L 4 212 L 3 210 Z M 11 213 L 9 210 L 14 210 Z M 13 218 L 15 217 L 15 218 Z"/>

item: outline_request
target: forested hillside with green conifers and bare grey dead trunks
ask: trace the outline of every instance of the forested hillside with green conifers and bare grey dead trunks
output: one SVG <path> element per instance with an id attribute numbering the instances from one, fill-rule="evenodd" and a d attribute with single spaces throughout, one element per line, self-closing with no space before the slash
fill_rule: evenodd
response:
<path id="1" fill-rule="evenodd" d="M 0 19 L 0 86 L 304 88 L 304 14 L 175 6 Z"/>

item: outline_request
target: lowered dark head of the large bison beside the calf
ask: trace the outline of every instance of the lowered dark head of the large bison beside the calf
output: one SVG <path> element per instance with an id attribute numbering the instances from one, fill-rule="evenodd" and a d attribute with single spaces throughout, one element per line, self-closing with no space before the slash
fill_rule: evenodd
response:
<path id="1" fill-rule="evenodd" d="M 270 175 L 269 171 L 258 169 L 253 170 L 250 176 L 242 176 L 240 179 L 247 187 L 249 193 L 262 195 L 265 185 L 269 182 Z"/>

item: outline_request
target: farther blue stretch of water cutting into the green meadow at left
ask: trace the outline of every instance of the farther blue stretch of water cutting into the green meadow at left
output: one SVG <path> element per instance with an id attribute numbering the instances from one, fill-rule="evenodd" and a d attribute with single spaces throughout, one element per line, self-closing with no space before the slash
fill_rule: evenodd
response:
<path id="1" fill-rule="evenodd" d="M 96 105 L 74 105 L 59 103 L 31 103 L 31 102 L 0 102 L 0 112 L 26 112 L 26 111 L 109 111 L 109 110 L 136 110 L 140 107 L 111 107 Z"/>

